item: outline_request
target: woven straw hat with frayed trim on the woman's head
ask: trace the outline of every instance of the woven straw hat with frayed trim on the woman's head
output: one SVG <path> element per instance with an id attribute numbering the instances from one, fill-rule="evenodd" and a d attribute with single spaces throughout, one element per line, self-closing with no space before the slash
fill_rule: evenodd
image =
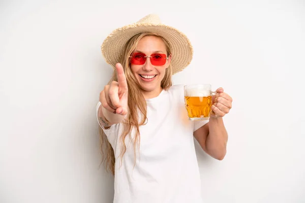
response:
<path id="1" fill-rule="evenodd" d="M 155 14 L 147 15 L 134 24 L 112 31 L 101 46 L 106 62 L 115 68 L 115 64 L 119 62 L 128 40 L 142 32 L 155 32 L 170 44 L 173 74 L 182 71 L 191 63 L 193 47 L 190 40 L 179 30 L 162 24 L 159 16 Z"/>

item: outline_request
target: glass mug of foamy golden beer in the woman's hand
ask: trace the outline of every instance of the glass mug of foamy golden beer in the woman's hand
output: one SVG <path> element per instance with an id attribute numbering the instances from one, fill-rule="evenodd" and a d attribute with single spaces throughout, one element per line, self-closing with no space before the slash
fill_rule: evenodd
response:
<path id="1" fill-rule="evenodd" d="M 185 106 L 191 120 L 208 120 L 211 113 L 212 96 L 210 84 L 185 85 Z"/>

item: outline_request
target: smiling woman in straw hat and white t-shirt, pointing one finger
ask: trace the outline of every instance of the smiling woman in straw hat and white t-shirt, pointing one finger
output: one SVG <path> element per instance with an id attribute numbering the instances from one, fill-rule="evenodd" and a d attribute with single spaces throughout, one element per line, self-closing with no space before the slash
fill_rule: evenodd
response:
<path id="1" fill-rule="evenodd" d="M 114 202 L 202 202 L 193 137 L 223 159 L 228 136 L 222 117 L 232 98 L 219 88 L 209 121 L 188 119 L 184 87 L 172 86 L 171 77 L 191 62 L 193 49 L 158 16 L 114 30 L 102 53 L 115 67 L 97 105 L 101 143 L 115 174 Z"/>

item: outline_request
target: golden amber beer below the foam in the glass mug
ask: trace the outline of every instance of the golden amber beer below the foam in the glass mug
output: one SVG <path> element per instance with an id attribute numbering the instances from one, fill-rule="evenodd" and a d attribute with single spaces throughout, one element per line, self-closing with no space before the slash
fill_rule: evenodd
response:
<path id="1" fill-rule="evenodd" d="M 192 120 L 209 117 L 212 106 L 212 96 L 185 96 L 185 100 L 189 117 Z"/>

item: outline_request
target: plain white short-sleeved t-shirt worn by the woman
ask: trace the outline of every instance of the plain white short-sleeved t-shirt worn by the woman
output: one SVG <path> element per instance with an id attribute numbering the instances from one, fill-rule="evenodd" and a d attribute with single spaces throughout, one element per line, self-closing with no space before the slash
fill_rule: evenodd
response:
<path id="1" fill-rule="evenodd" d="M 123 124 L 104 129 L 114 149 L 114 203 L 202 203 L 193 132 L 208 121 L 188 119 L 182 85 L 146 99 L 146 125 L 140 126 L 140 146 L 127 136 L 120 161 Z M 101 103 L 98 103 L 97 110 Z"/>

